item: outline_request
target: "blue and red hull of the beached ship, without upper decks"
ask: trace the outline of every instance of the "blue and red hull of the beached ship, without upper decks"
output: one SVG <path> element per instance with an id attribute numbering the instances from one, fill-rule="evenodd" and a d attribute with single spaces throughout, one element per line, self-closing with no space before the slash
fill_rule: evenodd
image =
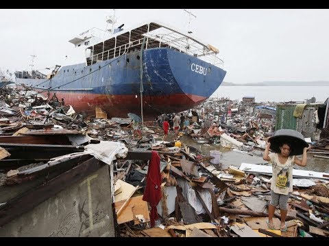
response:
<path id="1" fill-rule="evenodd" d="M 143 72 L 141 72 L 141 60 Z M 141 73 L 142 81 L 141 83 Z M 191 109 L 221 85 L 226 71 L 173 49 L 147 49 L 86 66 L 64 66 L 52 79 L 18 79 L 16 83 L 58 98 L 75 111 L 95 114 L 101 107 L 110 117 L 141 115 L 145 120 L 162 113 Z"/>

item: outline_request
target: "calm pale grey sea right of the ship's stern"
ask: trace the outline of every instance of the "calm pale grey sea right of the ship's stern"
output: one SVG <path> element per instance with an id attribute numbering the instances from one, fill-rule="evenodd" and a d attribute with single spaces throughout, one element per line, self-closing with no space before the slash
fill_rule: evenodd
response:
<path id="1" fill-rule="evenodd" d="M 314 96 L 317 102 L 324 102 L 329 86 L 219 86 L 211 97 L 242 100 L 244 96 L 254 96 L 256 102 L 302 102 Z"/>

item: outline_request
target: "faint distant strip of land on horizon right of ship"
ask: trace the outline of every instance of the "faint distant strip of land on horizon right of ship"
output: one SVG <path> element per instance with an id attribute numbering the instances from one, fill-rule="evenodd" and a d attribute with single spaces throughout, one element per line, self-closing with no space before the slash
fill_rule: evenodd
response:
<path id="1" fill-rule="evenodd" d="M 223 83 L 221 83 L 221 86 L 329 86 L 329 81 L 314 81 L 314 82 L 268 81 L 268 82 L 261 82 L 261 83 L 245 83 L 245 84 L 223 82 Z"/>

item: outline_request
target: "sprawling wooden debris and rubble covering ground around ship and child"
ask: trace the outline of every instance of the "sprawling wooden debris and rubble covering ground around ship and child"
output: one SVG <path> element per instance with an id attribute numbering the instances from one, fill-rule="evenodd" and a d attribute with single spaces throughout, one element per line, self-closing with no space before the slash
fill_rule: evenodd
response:
<path id="1" fill-rule="evenodd" d="M 269 230 L 269 165 L 242 163 L 240 167 L 222 169 L 214 156 L 193 146 L 160 141 L 163 131 L 154 122 L 143 122 L 143 138 L 135 141 L 130 118 L 86 117 L 55 94 L 45 98 L 28 88 L 0 90 L 0 226 L 14 217 L 14 213 L 8 213 L 14 207 L 13 201 L 20 201 L 19 197 L 33 183 L 45 184 L 80 163 L 88 163 L 88 154 L 98 159 L 110 153 L 99 147 L 100 152 L 95 154 L 90 145 L 116 142 L 128 152 L 101 160 L 110 165 L 117 236 L 329 234 L 329 174 L 297 170 L 289 198 L 288 230 L 280 231 L 280 210 L 273 219 L 276 230 Z M 233 113 L 225 120 L 208 113 L 181 131 L 180 136 L 186 135 L 200 144 L 261 155 L 273 131 L 273 118 L 258 118 L 250 116 L 247 109 L 243 111 L 245 114 Z M 312 151 L 328 154 L 329 139 L 313 143 Z M 158 169 L 151 165 L 154 162 Z M 70 177 L 74 180 L 75 176 Z M 147 192 L 153 184 L 156 192 Z M 22 188 L 14 189 L 15 185 Z M 150 198 L 149 194 L 156 197 Z M 15 209 L 16 216 L 23 213 Z"/>

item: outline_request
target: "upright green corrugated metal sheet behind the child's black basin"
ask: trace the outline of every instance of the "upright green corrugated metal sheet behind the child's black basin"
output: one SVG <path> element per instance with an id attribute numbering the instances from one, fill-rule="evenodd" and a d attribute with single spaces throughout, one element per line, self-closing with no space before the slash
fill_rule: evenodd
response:
<path id="1" fill-rule="evenodd" d="M 295 105 L 276 105 L 276 131 L 280 129 L 297 129 L 297 118 L 293 116 Z"/>

